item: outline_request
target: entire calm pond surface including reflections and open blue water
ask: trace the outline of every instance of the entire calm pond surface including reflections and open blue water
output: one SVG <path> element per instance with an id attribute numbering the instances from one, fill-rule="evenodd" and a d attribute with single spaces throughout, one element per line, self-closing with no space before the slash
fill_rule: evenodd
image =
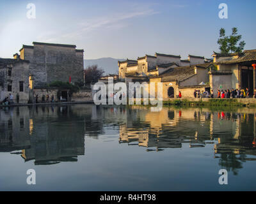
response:
<path id="1" fill-rule="evenodd" d="M 255 109 L 0 110 L 0 190 L 255 191 Z M 29 169 L 36 184 L 28 185 Z M 228 172 L 220 185 L 219 170 Z"/>

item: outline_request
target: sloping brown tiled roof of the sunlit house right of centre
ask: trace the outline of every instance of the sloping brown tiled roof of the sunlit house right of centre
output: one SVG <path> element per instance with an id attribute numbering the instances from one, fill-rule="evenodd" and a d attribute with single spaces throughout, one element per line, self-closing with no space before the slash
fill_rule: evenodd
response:
<path id="1" fill-rule="evenodd" d="M 195 66 L 199 68 L 208 68 L 212 63 L 204 64 L 195 64 L 193 66 L 181 66 L 176 68 L 170 68 L 168 71 L 161 74 L 162 82 L 175 82 L 183 81 L 190 77 L 193 77 L 195 74 Z"/>

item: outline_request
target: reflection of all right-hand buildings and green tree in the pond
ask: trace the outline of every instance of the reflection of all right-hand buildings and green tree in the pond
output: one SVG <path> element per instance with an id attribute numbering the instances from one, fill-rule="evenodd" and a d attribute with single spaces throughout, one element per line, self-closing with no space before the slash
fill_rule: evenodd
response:
<path id="1" fill-rule="evenodd" d="M 256 115 L 248 113 L 211 112 L 199 108 L 161 112 L 127 112 L 127 124 L 120 126 L 120 143 L 147 147 L 148 151 L 164 148 L 190 148 L 211 145 L 222 168 L 238 173 L 243 162 L 256 160 Z M 144 108 L 145 109 L 145 108 Z M 141 114 L 143 113 L 143 114 Z M 139 128 L 140 127 L 140 128 Z M 189 145 L 189 146 L 188 146 Z"/>

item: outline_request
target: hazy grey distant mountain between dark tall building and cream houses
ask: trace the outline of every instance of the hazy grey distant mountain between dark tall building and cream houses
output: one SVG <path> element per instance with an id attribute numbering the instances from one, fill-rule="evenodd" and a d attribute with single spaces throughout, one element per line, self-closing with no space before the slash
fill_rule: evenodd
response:
<path id="1" fill-rule="evenodd" d="M 105 75 L 115 74 L 118 71 L 118 61 L 124 61 L 125 59 L 114 59 L 111 57 L 102 57 L 99 59 L 84 59 L 84 68 L 98 64 L 98 66 L 105 71 Z"/>

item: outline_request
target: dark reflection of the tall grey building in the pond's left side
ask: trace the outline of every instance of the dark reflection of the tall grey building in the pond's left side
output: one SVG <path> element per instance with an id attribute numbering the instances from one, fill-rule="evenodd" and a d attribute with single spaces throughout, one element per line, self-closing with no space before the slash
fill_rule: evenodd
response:
<path id="1" fill-rule="evenodd" d="M 34 159 L 35 164 L 77 161 L 77 156 L 84 155 L 84 120 L 72 120 L 77 114 L 72 106 L 6 110 L 0 110 L 1 152 L 21 150 L 24 160 Z"/>

